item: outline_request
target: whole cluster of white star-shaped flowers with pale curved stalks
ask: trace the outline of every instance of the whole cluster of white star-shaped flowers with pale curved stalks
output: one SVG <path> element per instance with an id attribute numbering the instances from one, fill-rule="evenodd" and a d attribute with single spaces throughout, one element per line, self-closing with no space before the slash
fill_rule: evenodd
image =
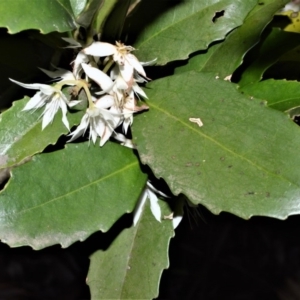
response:
<path id="1" fill-rule="evenodd" d="M 78 45 L 76 45 L 78 47 Z M 145 109 L 138 105 L 140 97 L 147 98 L 139 83 L 148 80 L 142 63 L 131 53 L 135 49 L 116 42 L 112 45 L 94 42 L 82 49 L 73 62 L 73 71 L 57 68 L 56 71 L 41 69 L 57 82 L 53 85 L 25 84 L 11 79 L 14 83 L 38 92 L 29 100 L 23 110 L 36 110 L 42 107 L 42 129 L 52 123 L 59 108 L 62 111 L 62 122 L 70 130 L 67 119 L 68 107 L 77 105 L 81 100 L 68 100 L 62 92 L 63 86 L 72 86 L 73 93 L 78 95 L 84 89 L 88 107 L 79 126 L 70 133 L 73 141 L 89 132 L 89 139 L 96 143 L 100 137 L 100 146 L 114 135 L 118 140 L 126 140 L 115 129 L 122 125 L 126 134 L 133 122 L 133 114 Z M 109 74 L 109 75 L 108 75 Z M 98 91 L 92 93 L 91 86 Z"/>

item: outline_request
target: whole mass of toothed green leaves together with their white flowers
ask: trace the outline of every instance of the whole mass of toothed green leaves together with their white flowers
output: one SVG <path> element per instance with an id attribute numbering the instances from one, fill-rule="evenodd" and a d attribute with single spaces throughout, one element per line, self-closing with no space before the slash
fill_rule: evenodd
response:
<path id="1" fill-rule="evenodd" d="M 152 299 L 186 209 L 299 214 L 288 2 L 0 3 L 1 241 L 68 247 L 132 213 L 88 284 L 92 299 Z"/>

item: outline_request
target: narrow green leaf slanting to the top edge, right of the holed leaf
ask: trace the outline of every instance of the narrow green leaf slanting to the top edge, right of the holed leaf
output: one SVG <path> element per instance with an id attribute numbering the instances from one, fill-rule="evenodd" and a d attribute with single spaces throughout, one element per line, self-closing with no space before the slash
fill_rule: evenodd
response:
<path id="1" fill-rule="evenodd" d="M 257 4 L 246 17 L 244 24 L 230 33 L 224 42 L 212 45 L 205 53 L 191 59 L 187 65 L 177 68 L 176 73 L 186 71 L 214 72 L 225 78 L 243 62 L 245 53 L 255 45 L 273 15 L 288 0 L 266 0 Z"/>

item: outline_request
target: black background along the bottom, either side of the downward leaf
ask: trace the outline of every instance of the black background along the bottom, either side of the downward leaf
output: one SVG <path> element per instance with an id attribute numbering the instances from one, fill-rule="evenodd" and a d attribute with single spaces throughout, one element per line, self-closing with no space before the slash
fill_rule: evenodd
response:
<path id="1" fill-rule="evenodd" d="M 90 299 L 88 257 L 130 218 L 67 249 L 0 244 L 0 299 Z M 158 299 L 300 299 L 299 229 L 299 216 L 243 220 L 189 208 L 171 240 Z"/>

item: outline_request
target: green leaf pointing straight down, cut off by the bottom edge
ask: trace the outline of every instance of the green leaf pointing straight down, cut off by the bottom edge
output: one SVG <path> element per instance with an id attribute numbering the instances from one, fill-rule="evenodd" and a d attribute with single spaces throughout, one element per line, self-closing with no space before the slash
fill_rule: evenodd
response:
<path id="1" fill-rule="evenodd" d="M 170 214 L 166 203 L 162 204 Z M 169 265 L 173 235 L 170 220 L 156 221 L 147 204 L 135 227 L 125 229 L 106 251 L 91 256 L 88 284 L 92 299 L 156 298 L 162 271 Z"/>

